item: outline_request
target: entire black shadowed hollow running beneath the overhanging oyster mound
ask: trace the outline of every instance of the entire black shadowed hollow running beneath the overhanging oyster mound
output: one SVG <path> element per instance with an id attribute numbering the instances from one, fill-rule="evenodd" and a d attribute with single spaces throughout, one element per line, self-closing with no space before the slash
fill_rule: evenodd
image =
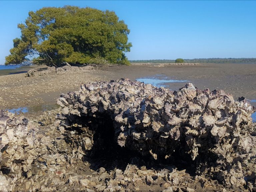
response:
<path id="1" fill-rule="evenodd" d="M 177 170 L 186 169 L 186 172 L 191 176 L 195 175 L 194 162 L 189 154 L 181 150 L 182 146 L 177 145 L 175 152 L 167 159 L 161 155 L 157 160 L 153 159 L 150 154 L 143 156 L 135 150 L 118 145 L 113 120 L 109 115 L 96 114 L 95 116 L 79 117 L 71 115 L 68 119 L 69 124 L 73 126 L 67 130 L 65 137 L 65 141 L 71 147 L 82 147 L 86 154 L 83 160 L 90 163 L 91 169 L 97 170 L 104 167 L 107 171 L 114 168 L 124 171 L 128 164 L 134 164 L 138 167 L 145 166 L 147 169 L 153 168 L 155 170 L 163 168 L 169 170 L 174 168 L 177 168 Z M 77 125 L 79 126 L 77 127 Z M 70 139 L 70 131 L 75 131 L 76 139 Z M 93 145 L 90 150 L 86 150 L 84 142 L 81 140 L 85 136 L 93 138 Z"/>

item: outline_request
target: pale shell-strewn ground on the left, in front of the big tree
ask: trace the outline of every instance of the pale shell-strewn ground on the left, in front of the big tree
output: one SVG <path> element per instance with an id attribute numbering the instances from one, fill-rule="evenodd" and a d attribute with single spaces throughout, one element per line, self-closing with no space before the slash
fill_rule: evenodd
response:
<path id="1" fill-rule="evenodd" d="M 79 71 L 25 77 L 25 73 L 0 76 L 0 109 L 55 105 L 61 93 L 78 90 L 82 83 L 107 80 L 107 71 Z M 34 112 L 34 111 L 33 111 Z"/>

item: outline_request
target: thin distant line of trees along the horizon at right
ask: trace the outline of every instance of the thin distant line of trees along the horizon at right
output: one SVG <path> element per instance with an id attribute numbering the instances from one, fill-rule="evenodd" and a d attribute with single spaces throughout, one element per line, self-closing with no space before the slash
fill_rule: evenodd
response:
<path id="1" fill-rule="evenodd" d="M 174 59 L 130 60 L 131 63 L 175 63 Z M 184 63 L 256 63 L 256 58 L 184 59 Z"/>

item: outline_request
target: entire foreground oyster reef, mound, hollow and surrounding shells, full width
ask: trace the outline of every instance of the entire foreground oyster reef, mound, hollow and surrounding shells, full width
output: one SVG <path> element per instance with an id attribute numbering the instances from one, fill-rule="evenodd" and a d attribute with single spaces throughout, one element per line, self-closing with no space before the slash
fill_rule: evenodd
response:
<path id="1" fill-rule="evenodd" d="M 81 85 L 57 103 L 42 127 L 0 112 L 0 190 L 256 189 L 256 110 L 243 97 L 120 79 Z"/>

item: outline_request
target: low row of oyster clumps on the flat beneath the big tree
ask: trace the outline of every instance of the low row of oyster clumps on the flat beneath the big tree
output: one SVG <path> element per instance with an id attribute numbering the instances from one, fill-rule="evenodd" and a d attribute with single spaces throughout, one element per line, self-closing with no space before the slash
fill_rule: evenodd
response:
<path id="1" fill-rule="evenodd" d="M 37 69 L 30 69 L 26 73 L 26 77 L 34 77 L 34 76 L 44 76 L 44 75 L 49 75 L 51 73 L 57 73 L 57 74 L 62 74 L 66 73 L 67 71 L 69 72 L 76 72 L 79 70 L 93 70 L 93 66 L 83 66 L 83 67 L 77 67 L 77 66 L 63 66 L 63 67 L 48 67 L 46 70 L 37 70 Z"/>

